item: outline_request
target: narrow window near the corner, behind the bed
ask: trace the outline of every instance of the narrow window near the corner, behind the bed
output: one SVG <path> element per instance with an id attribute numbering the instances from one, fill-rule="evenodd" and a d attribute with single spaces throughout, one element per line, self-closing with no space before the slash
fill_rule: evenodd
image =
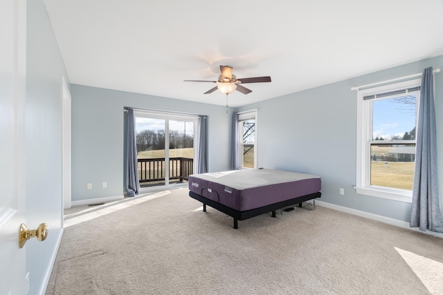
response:
<path id="1" fill-rule="evenodd" d="M 257 111 L 239 113 L 239 167 L 257 167 Z"/>

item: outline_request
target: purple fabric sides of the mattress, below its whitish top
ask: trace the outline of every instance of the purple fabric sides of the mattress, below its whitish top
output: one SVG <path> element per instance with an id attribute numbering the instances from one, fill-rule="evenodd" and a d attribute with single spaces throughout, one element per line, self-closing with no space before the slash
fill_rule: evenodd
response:
<path id="1" fill-rule="evenodd" d="M 246 211 L 316 193 L 321 189 L 320 178 L 308 178 L 251 189 L 231 189 L 224 184 L 190 176 L 190 191 L 238 211 Z"/>

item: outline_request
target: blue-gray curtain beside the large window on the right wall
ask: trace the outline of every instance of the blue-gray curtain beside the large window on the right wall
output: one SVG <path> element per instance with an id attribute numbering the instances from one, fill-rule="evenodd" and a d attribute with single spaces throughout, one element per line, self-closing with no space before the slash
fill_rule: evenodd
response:
<path id="1" fill-rule="evenodd" d="M 443 233 L 438 194 L 433 70 L 424 69 L 417 123 L 417 146 L 410 227 Z"/>

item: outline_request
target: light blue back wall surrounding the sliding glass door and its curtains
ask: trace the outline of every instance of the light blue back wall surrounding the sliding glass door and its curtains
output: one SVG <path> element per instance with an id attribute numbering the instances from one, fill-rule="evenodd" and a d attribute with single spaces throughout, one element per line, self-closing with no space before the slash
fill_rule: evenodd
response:
<path id="1" fill-rule="evenodd" d="M 73 84 L 72 200 L 123 196 L 125 106 L 206 115 L 208 170 L 230 168 L 232 109 Z M 107 188 L 102 188 L 107 182 Z M 93 188 L 87 189 L 87 183 Z"/>

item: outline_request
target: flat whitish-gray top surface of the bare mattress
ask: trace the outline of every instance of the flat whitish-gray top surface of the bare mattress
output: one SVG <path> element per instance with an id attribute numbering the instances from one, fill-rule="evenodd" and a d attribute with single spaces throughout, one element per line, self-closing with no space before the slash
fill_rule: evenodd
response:
<path id="1" fill-rule="evenodd" d="M 192 176 L 211 182 L 217 182 L 226 187 L 237 190 L 251 189 L 253 187 L 263 187 L 270 184 L 293 182 L 309 178 L 320 178 L 320 176 L 317 175 L 272 169 L 242 169 L 194 174 Z"/>

